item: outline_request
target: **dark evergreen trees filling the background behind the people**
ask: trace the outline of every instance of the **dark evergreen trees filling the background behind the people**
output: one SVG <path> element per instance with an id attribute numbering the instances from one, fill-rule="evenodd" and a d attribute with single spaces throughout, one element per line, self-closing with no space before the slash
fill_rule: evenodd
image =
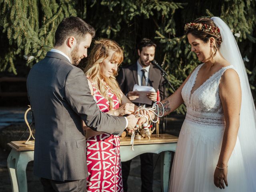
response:
<path id="1" fill-rule="evenodd" d="M 236 37 L 255 90 L 255 0 L 0 0 L 0 8 L 2 72 L 17 74 L 15 60 L 23 55 L 29 66 L 44 58 L 54 45 L 59 22 L 64 17 L 79 16 L 94 26 L 96 38 L 113 39 L 124 48 L 124 65 L 136 62 L 136 43 L 141 38 L 154 40 L 158 45 L 156 60 L 178 88 L 199 64 L 190 51 L 184 24 L 200 16 L 219 16 Z M 83 63 L 80 66 L 84 67 Z M 184 106 L 177 111 L 184 113 Z"/>

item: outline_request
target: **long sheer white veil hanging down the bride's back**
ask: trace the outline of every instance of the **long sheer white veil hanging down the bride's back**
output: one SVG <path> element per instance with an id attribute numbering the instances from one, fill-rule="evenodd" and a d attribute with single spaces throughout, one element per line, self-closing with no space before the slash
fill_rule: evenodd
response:
<path id="1" fill-rule="evenodd" d="M 248 178 L 245 178 L 249 184 L 248 191 L 256 191 L 256 111 L 246 68 L 236 40 L 228 25 L 218 17 L 212 17 L 211 19 L 220 29 L 222 36 L 222 44 L 219 51 L 236 68 L 240 77 L 242 104 L 238 138 L 241 144 L 246 175 L 248 176 Z"/>

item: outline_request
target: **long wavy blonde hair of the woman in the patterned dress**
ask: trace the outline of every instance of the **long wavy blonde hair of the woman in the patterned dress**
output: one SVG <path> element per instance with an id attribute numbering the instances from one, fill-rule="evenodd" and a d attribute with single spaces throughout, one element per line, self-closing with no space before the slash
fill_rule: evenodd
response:
<path id="1" fill-rule="evenodd" d="M 124 60 L 122 48 L 120 48 L 115 41 L 110 39 L 102 38 L 95 40 L 94 47 L 88 56 L 88 63 L 84 72 L 96 89 L 98 89 L 100 94 L 109 101 L 109 110 L 112 110 L 114 107 L 114 101 L 108 95 L 108 88 L 110 88 L 111 92 L 117 96 L 119 103 L 121 104 L 121 90 L 118 82 L 116 81 L 118 73 L 117 71 L 114 71 L 109 78 L 100 74 L 101 66 L 104 60 L 109 56 L 110 51 L 114 51 L 110 61 L 118 63 L 119 66 Z M 102 79 L 106 82 L 108 87 L 102 83 Z"/>

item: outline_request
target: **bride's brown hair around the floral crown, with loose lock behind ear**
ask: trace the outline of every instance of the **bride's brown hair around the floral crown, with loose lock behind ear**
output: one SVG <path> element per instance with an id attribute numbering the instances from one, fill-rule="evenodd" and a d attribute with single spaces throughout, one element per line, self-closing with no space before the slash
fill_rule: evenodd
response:
<path id="1" fill-rule="evenodd" d="M 197 18 L 196 20 L 194 20 L 193 23 L 202 23 L 202 24 L 207 24 L 208 26 L 216 27 L 216 25 L 213 22 L 213 20 L 211 20 L 211 18 L 208 18 L 208 17 Z M 221 36 L 216 36 L 214 34 L 211 34 L 211 33 L 208 33 L 208 32 L 204 32 L 202 30 L 191 29 L 191 28 L 188 29 L 187 32 L 186 32 L 187 35 L 189 33 L 191 33 L 196 38 L 201 39 L 204 43 L 207 43 L 211 37 L 215 39 L 215 42 L 218 42 L 218 40 L 221 38 Z M 211 49 L 210 57 L 207 58 L 206 61 L 211 60 L 212 63 L 214 63 L 213 58 L 214 58 L 214 56 L 216 56 L 217 50 L 219 48 L 220 48 L 220 44 L 218 44 L 218 43 L 216 43 L 216 45 L 214 44 L 214 46 L 213 46 L 214 52 L 212 52 L 212 49 Z"/>

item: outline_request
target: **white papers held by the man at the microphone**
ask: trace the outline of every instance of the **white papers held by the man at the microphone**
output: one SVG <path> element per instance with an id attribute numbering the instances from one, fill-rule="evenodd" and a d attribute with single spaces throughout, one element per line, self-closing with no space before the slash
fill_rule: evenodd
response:
<path id="1" fill-rule="evenodd" d="M 147 94 L 151 92 L 156 92 L 156 90 L 151 86 L 139 86 L 137 84 L 134 85 L 132 91 L 136 91 L 140 95 L 139 98 L 133 100 L 132 102 L 149 105 L 152 104 L 152 100 L 147 97 Z"/>

